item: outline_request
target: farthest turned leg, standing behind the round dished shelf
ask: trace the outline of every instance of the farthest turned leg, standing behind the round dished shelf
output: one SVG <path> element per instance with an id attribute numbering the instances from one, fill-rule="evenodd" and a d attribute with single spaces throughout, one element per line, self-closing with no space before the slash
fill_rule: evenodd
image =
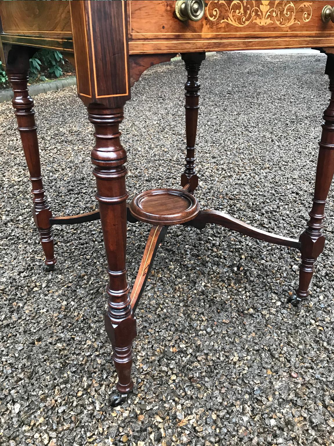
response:
<path id="1" fill-rule="evenodd" d="M 198 176 L 195 169 L 195 142 L 197 132 L 198 109 L 200 100 L 200 83 L 198 73 L 201 63 L 205 59 L 205 53 L 183 53 L 181 54 L 186 70 L 187 82 L 184 85 L 185 109 L 186 109 L 186 138 L 187 155 L 184 173 L 181 176 L 181 186 L 190 185 L 188 192 L 194 192 L 198 186 Z"/>

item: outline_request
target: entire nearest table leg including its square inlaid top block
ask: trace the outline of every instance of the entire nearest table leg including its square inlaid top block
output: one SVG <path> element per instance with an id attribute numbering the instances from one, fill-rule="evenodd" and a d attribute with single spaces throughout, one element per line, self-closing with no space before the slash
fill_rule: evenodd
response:
<path id="1" fill-rule="evenodd" d="M 123 107 L 131 97 L 126 2 L 73 1 L 69 8 L 78 95 L 95 127 L 91 156 L 109 274 L 105 326 L 121 393 L 121 398 L 115 395 L 110 401 L 114 405 L 133 388 L 130 374 L 136 336 L 126 280 L 126 151 L 119 139 Z"/>

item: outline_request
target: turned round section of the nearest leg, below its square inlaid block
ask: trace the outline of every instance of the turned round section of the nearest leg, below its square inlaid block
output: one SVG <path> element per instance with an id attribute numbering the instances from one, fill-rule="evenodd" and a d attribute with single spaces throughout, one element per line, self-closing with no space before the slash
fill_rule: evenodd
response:
<path id="1" fill-rule="evenodd" d="M 108 310 L 106 332 L 113 347 L 113 359 L 118 375 L 117 389 L 124 397 L 133 388 L 130 378 L 132 341 L 136 336 L 136 320 L 132 315 L 129 285 L 126 280 L 126 151 L 119 137 L 123 108 L 105 108 L 91 104 L 88 116 L 95 127 L 96 145 L 92 151 L 95 165 L 103 239 L 108 261 Z M 124 398 L 123 398 L 124 399 Z M 114 397 L 112 404 L 122 400 Z"/>

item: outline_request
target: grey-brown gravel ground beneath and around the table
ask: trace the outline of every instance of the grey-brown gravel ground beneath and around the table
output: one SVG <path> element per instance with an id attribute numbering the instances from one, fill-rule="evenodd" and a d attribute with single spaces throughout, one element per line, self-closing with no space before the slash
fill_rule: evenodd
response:
<path id="1" fill-rule="evenodd" d="M 297 237 L 310 209 L 328 103 L 326 57 L 219 54 L 201 71 L 203 208 Z M 127 187 L 178 186 L 184 157 L 181 63 L 143 74 L 126 105 Z M 54 215 L 96 208 L 92 125 L 75 87 L 36 97 Z M 286 304 L 299 253 L 220 227 L 172 227 L 138 307 L 135 389 L 108 404 L 116 375 L 103 326 L 99 222 L 55 227 L 43 271 L 10 103 L 2 150 L 0 442 L 4 445 L 333 445 L 333 194 L 312 295 Z M 134 281 L 149 226 L 128 225 Z M 297 373 L 297 378 L 293 378 Z"/>

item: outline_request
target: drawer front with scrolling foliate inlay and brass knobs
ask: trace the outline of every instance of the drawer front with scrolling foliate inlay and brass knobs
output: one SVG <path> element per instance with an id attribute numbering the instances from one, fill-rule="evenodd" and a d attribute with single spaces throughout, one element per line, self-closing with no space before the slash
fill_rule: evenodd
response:
<path id="1" fill-rule="evenodd" d="M 321 18 L 330 0 L 207 0 L 200 21 L 180 21 L 175 3 L 128 1 L 130 40 L 334 36 L 334 23 Z"/>

